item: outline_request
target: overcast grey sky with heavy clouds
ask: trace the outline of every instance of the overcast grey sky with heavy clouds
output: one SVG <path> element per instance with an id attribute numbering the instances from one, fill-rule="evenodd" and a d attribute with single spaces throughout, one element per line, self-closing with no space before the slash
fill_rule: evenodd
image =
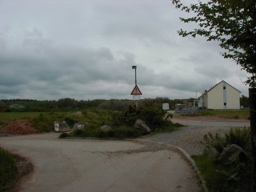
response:
<path id="1" fill-rule="evenodd" d="M 182 38 L 169 0 L 0 0 L 0 99 L 198 97 L 248 74 L 218 42 Z"/>

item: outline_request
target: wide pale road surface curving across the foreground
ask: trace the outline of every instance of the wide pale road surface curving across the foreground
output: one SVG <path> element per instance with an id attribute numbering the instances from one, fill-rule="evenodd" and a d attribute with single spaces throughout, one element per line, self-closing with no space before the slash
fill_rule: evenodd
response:
<path id="1" fill-rule="evenodd" d="M 19 191 L 202 191 L 191 166 L 168 148 L 58 136 L 0 138 L 2 147 L 35 166 Z"/>

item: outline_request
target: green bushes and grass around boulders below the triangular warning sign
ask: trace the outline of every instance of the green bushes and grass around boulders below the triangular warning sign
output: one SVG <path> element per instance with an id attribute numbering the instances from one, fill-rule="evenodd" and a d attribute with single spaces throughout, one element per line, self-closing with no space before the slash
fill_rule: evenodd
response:
<path id="1" fill-rule="evenodd" d="M 134 128 L 135 121 L 140 118 L 150 127 L 152 132 L 173 131 L 180 124 L 173 124 L 164 120 L 165 112 L 157 108 L 136 108 L 129 106 L 127 111 L 94 110 L 83 113 L 84 129 L 70 132 L 68 136 L 93 137 L 93 138 L 136 138 L 141 136 L 141 131 Z M 75 118 L 73 116 L 73 118 Z M 81 122 L 81 121 L 80 121 Z M 104 131 L 102 125 L 109 125 L 111 129 Z M 61 134 L 61 138 L 67 134 Z"/>

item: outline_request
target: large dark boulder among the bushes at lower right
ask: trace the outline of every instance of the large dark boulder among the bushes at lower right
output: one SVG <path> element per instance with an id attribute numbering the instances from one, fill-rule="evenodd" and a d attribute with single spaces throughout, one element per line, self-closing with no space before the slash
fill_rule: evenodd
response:
<path id="1" fill-rule="evenodd" d="M 228 145 L 223 149 L 220 156 L 218 157 L 218 161 L 220 164 L 232 164 L 237 160 L 245 162 L 248 160 L 248 156 L 246 152 L 244 152 L 243 148 L 239 147 L 236 144 Z"/>

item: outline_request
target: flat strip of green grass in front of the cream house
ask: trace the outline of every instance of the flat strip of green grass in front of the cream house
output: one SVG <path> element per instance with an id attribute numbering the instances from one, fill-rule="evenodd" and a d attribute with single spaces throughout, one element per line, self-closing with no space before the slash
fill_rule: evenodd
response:
<path id="1" fill-rule="evenodd" d="M 250 111 L 248 109 L 241 109 L 241 110 L 202 109 L 202 111 L 200 111 L 200 116 L 216 116 L 216 117 L 220 117 L 220 118 L 248 119 L 250 116 Z"/>

